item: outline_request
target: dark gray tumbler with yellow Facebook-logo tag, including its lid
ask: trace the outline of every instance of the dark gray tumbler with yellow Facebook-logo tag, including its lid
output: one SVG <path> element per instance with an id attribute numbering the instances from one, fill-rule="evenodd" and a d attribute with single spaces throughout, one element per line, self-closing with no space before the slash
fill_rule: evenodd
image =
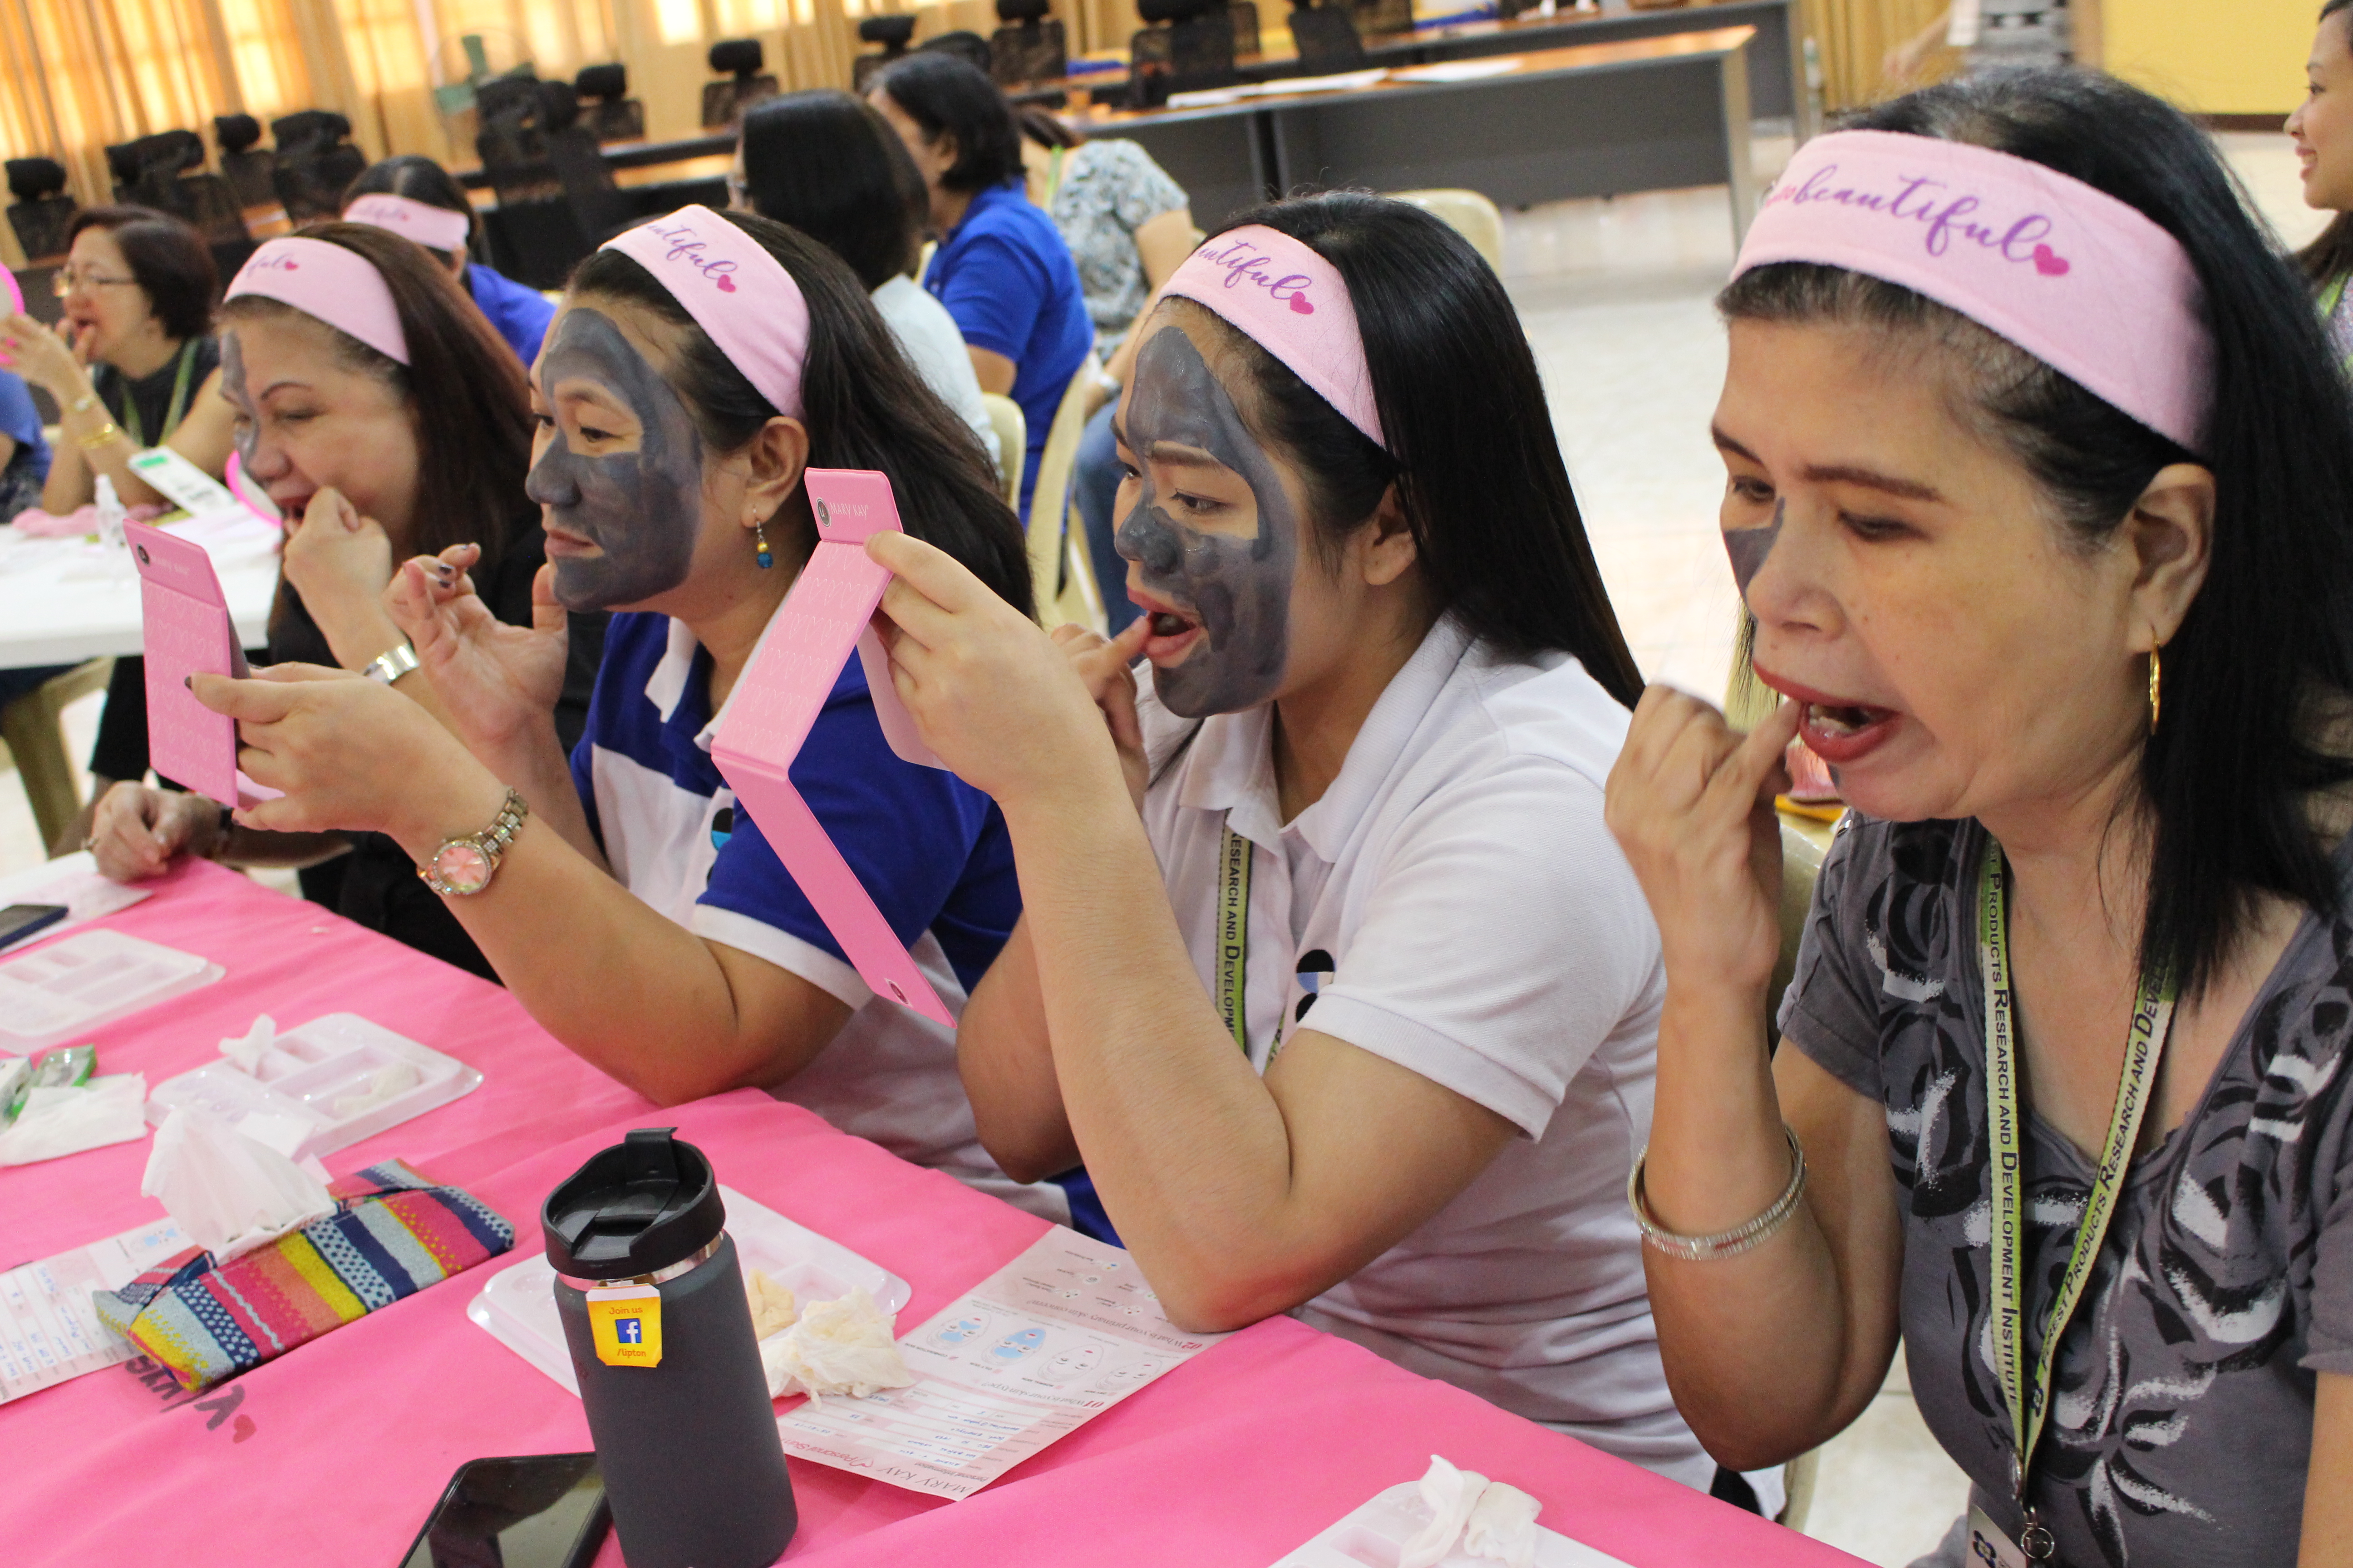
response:
<path id="1" fill-rule="evenodd" d="M 793 1481 L 718 1178 L 673 1131 L 631 1131 L 548 1194 L 555 1309 L 628 1568 L 767 1568 L 800 1523 Z M 600 1298 L 600 1354 L 588 1293 L 612 1286 L 652 1286 L 659 1314 Z"/>

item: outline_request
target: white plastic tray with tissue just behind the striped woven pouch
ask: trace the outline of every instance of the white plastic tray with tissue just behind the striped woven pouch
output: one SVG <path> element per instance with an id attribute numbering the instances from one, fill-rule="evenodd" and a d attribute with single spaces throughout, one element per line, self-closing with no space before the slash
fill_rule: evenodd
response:
<path id="1" fill-rule="evenodd" d="M 348 1105 L 398 1063 L 416 1070 L 412 1088 L 376 1105 Z M 358 1013 L 327 1013 L 278 1034 L 254 1072 L 216 1060 L 165 1079 L 148 1093 L 148 1121 L 195 1105 L 299 1161 L 374 1138 L 480 1086 L 482 1074 L 452 1056 Z"/>

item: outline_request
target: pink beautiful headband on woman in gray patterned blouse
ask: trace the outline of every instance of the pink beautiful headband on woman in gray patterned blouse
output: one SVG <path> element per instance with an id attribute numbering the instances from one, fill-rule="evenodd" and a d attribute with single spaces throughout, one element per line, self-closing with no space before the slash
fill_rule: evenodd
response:
<path id="1" fill-rule="evenodd" d="M 1772 261 L 1904 284 L 2179 447 L 2205 435 L 2214 341 L 2188 254 L 2057 169 L 1937 136 L 1817 136 L 1774 181 L 1732 275 Z"/>

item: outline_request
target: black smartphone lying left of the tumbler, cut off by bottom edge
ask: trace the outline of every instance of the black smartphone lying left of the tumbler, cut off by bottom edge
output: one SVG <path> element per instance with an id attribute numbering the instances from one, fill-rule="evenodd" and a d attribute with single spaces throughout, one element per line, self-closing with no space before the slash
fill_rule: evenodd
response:
<path id="1" fill-rule="evenodd" d="M 400 1568 L 586 1568 L 609 1526 L 593 1453 L 471 1460 Z"/>

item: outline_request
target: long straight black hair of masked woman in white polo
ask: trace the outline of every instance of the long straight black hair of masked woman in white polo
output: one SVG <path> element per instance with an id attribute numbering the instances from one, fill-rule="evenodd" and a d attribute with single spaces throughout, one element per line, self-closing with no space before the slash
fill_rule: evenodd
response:
<path id="1" fill-rule="evenodd" d="M 1219 322 L 1249 364 L 1266 435 L 1306 477 L 1318 543 L 1329 550 L 1358 529 L 1395 484 L 1440 611 L 1504 654 L 1574 654 L 1633 708 L 1642 675 L 1593 562 L 1537 355 L 1494 270 L 1428 212 L 1360 190 L 1271 202 L 1226 228 L 1242 223 L 1339 268 L 1365 336 L 1386 451 Z"/>

